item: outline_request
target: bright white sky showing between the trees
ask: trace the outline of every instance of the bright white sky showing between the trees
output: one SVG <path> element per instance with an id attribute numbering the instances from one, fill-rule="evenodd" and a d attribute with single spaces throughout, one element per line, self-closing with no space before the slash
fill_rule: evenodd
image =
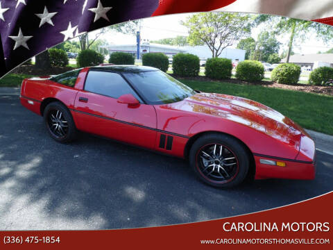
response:
<path id="1" fill-rule="evenodd" d="M 162 17 L 148 17 L 142 19 L 142 39 L 148 40 L 160 40 L 162 38 L 175 38 L 177 35 L 188 35 L 187 28 L 180 24 L 181 20 L 185 20 L 186 17 L 192 14 L 176 14 L 165 15 Z M 257 40 L 257 35 L 262 27 L 254 28 L 251 36 Z M 89 33 L 90 36 L 90 33 Z M 91 34 L 94 36 L 94 33 Z M 107 40 L 110 44 L 135 44 L 136 38 L 134 35 L 124 35 L 121 33 L 108 32 L 101 36 L 101 39 Z M 287 47 L 287 41 L 289 35 L 285 34 L 278 37 L 279 42 L 282 42 L 284 46 L 281 46 L 280 53 Z M 237 43 L 232 47 L 236 47 Z M 331 44 L 325 44 L 320 39 L 316 38 L 315 33 L 307 35 L 307 39 L 304 42 L 296 40 L 294 43 L 293 51 L 295 53 L 318 53 L 318 51 L 327 51 L 333 47 Z"/>

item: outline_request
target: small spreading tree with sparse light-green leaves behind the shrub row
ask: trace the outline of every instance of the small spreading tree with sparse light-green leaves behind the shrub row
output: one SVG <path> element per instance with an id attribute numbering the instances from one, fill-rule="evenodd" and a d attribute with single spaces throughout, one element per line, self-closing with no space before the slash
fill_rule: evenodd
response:
<path id="1" fill-rule="evenodd" d="M 250 34 L 250 15 L 230 12 L 205 12 L 187 17 L 184 26 L 189 29 L 190 45 L 206 44 L 212 57 Z"/>

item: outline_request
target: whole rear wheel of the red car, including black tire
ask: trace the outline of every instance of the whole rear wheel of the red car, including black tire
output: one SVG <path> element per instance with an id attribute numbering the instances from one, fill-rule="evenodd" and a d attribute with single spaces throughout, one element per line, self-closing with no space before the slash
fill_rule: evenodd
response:
<path id="1" fill-rule="evenodd" d="M 58 102 L 49 103 L 44 110 L 44 123 L 51 138 L 67 143 L 76 139 L 77 130 L 67 107 Z"/>

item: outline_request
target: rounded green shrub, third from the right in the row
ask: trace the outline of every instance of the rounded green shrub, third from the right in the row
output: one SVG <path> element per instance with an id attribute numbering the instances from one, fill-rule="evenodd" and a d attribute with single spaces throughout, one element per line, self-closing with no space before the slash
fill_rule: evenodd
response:
<path id="1" fill-rule="evenodd" d="M 236 67 L 236 77 L 239 80 L 261 81 L 264 76 L 264 65 L 256 60 L 244 60 Z"/>

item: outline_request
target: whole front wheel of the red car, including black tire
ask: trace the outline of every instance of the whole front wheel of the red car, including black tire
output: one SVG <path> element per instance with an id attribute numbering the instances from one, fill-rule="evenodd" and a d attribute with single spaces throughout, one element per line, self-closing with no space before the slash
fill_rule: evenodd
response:
<path id="1" fill-rule="evenodd" d="M 209 133 L 192 145 L 189 164 L 201 181 L 217 188 L 232 188 L 246 178 L 250 156 L 232 136 Z"/>

